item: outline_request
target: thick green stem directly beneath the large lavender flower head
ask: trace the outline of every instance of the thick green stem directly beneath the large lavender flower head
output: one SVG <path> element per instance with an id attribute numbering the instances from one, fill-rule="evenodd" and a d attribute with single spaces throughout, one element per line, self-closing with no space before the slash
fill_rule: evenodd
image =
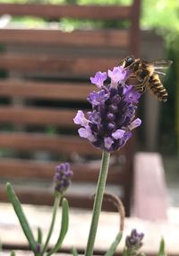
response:
<path id="1" fill-rule="evenodd" d="M 93 247 L 94 247 L 97 228 L 98 228 L 98 218 L 101 211 L 103 194 L 104 194 L 106 181 L 107 181 L 109 158 L 110 158 L 110 154 L 107 153 L 106 151 L 103 151 L 101 168 L 100 168 L 99 177 L 98 177 L 98 185 L 97 185 L 95 201 L 93 205 L 92 220 L 90 224 L 90 234 L 89 234 L 89 239 L 87 243 L 87 249 L 85 252 L 86 256 L 93 255 Z"/>

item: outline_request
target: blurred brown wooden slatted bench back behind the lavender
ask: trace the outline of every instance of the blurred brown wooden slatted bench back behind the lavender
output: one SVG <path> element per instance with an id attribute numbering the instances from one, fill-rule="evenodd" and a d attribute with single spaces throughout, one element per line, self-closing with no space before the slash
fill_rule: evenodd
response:
<path id="1" fill-rule="evenodd" d="M 7 200 L 4 182 L 8 180 L 22 203 L 51 205 L 55 165 L 70 161 L 74 172 L 70 205 L 92 206 L 94 190 L 88 188 L 98 179 L 101 152 L 78 137 L 72 119 L 78 109 L 89 108 L 86 97 L 94 89 L 90 75 L 112 68 L 126 55 L 138 55 L 139 13 L 140 0 L 129 6 L 0 4 L 0 15 L 47 22 L 45 28 L 10 22 L 0 29 L 1 201 Z M 122 20 L 130 26 L 69 32 L 60 29 L 64 18 Z M 118 192 L 122 186 L 128 215 L 132 152 L 131 141 L 113 155 L 108 175 L 109 190 Z"/>

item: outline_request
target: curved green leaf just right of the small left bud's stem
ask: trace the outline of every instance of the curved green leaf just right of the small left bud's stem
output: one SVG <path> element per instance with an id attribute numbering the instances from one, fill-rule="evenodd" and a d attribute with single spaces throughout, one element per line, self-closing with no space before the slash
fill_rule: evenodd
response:
<path id="1" fill-rule="evenodd" d="M 69 206 L 68 206 L 67 199 L 63 199 L 60 234 L 59 234 L 57 242 L 55 243 L 54 248 L 50 252 L 47 253 L 47 256 L 52 255 L 53 253 L 57 252 L 60 249 L 60 247 L 64 241 L 64 236 L 68 231 L 68 225 L 69 225 Z"/>

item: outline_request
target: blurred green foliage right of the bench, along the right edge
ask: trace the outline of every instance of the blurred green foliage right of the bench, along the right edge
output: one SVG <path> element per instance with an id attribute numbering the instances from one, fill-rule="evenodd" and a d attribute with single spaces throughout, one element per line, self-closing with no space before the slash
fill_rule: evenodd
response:
<path id="1" fill-rule="evenodd" d="M 179 0 L 144 0 L 141 27 L 154 29 L 166 41 L 166 57 L 174 61 L 166 76 L 168 101 L 162 104 L 159 145 L 162 152 L 179 151 Z"/>

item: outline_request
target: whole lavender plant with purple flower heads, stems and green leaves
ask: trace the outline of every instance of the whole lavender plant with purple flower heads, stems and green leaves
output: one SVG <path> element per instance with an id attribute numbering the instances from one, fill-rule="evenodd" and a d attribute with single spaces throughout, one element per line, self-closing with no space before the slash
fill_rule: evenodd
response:
<path id="1" fill-rule="evenodd" d="M 136 118 L 136 110 L 141 93 L 136 92 L 132 85 L 126 83 L 129 75 L 129 71 L 124 69 L 123 66 L 115 66 L 113 70 L 108 70 L 107 72 L 99 71 L 94 77 L 90 77 L 91 83 L 96 84 L 98 88 L 97 92 L 90 93 L 87 98 L 91 104 L 92 110 L 87 113 L 86 117 L 82 110 L 78 110 L 73 119 L 75 124 L 81 126 L 78 130 L 80 137 L 87 138 L 92 146 L 96 146 L 102 150 L 102 161 L 85 256 L 93 255 L 98 229 L 98 218 L 105 195 L 104 191 L 110 154 L 121 149 L 132 137 L 132 129 L 141 125 L 141 119 Z M 62 246 L 64 236 L 68 230 L 69 218 L 68 201 L 64 198 L 64 193 L 70 186 L 71 178 L 72 171 L 69 163 L 61 163 L 56 166 L 54 175 L 55 202 L 51 225 L 45 243 L 42 243 L 42 232 L 40 228 L 38 229 L 38 239 L 34 237 L 12 185 L 10 183 L 6 184 L 9 200 L 13 204 L 23 232 L 30 243 L 30 249 L 34 252 L 35 256 L 53 255 Z M 115 204 L 118 204 L 119 212 L 122 218 L 124 218 L 124 209 L 121 207 L 121 203 L 118 202 L 118 199 L 114 196 L 110 196 L 110 199 L 115 199 Z M 54 247 L 48 251 L 48 243 L 54 229 L 55 216 L 59 206 L 62 207 L 62 225 Z M 122 223 L 119 233 L 116 234 L 115 240 L 109 247 L 105 256 L 114 255 L 117 245 L 122 239 L 123 226 Z M 123 256 L 144 255 L 142 252 L 139 252 L 142 246 L 143 235 L 144 234 L 139 234 L 136 230 L 132 230 L 132 234 L 126 237 Z M 11 255 L 15 255 L 15 252 L 12 252 Z M 72 248 L 72 255 L 78 255 L 75 248 Z M 160 244 L 158 256 L 166 256 L 165 243 L 163 240 Z"/>

